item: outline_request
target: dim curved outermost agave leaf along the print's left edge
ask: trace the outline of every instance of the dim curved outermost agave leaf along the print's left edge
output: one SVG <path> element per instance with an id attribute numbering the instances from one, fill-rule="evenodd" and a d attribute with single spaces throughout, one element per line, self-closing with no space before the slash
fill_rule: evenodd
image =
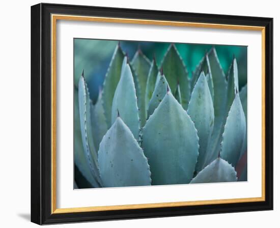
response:
<path id="1" fill-rule="evenodd" d="M 87 164 L 85 153 L 83 152 L 81 129 L 80 129 L 80 116 L 79 116 L 79 103 L 78 103 L 78 90 L 74 88 L 74 160 L 80 173 L 91 184 L 91 187 L 99 187 L 99 184 L 93 178 L 91 170 Z M 82 186 L 81 186 L 82 187 Z"/>

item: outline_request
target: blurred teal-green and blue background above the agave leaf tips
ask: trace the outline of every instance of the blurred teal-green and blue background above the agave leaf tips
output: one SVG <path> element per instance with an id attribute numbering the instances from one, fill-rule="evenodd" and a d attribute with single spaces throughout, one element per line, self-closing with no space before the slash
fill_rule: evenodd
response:
<path id="1" fill-rule="evenodd" d="M 111 56 L 118 42 L 114 40 L 74 39 L 74 84 L 77 86 L 82 70 L 85 70 L 85 78 L 93 102 L 97 99 L 99 88 L 102 87 Z M 130 60 L 140 47 L 150 60 L 155 56 L 158 66 L 160 66 L 164 53 L 170 45 L 170 43 L 141 41 L 121 41 L 120 43 Z M 189 77 L 204 54 L 214 46 L 225 74 L 227 75 L 233 55 L 235 55 L 238 64 L 239 89 L 247 83 L 246 46 L 186 43 L 176 43 L 175 45 L 185 63 Z"/>

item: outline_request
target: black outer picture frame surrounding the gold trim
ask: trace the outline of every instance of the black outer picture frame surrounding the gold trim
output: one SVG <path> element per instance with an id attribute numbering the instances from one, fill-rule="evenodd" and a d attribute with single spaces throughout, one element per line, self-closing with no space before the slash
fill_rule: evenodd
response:
<path id="1" fill-rule="evenodd" d="M 51 14 L 265 27 L 265 201 L 94 212 L 52 213 Z M 37 224 L 273 209 L 273 18 L 57 4 L 31 7 L 31 221 Z"/>

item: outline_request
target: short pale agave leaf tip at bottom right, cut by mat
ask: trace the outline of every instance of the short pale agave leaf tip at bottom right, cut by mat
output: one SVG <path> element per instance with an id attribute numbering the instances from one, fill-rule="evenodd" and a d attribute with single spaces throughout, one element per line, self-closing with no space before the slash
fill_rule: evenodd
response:
<path id="1" fill-rule="evenodd" d="M 207 165 L 201 172 L 191 180 L 195 183 L 218 183 L 236 181 L 236 172 L 227 161 L 217 158 Z"/>

